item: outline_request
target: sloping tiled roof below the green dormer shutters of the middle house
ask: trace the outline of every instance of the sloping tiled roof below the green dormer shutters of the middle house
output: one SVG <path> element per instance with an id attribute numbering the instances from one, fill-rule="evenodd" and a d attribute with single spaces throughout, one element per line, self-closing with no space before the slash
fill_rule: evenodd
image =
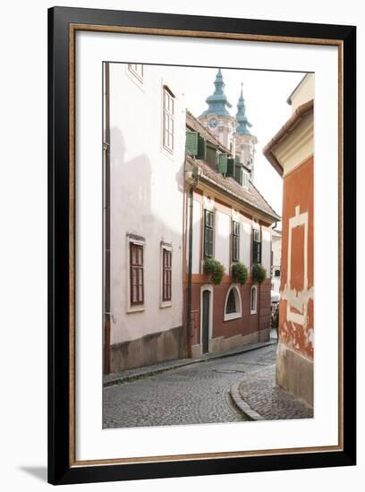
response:
<path id="1" fill-rule="evenodd" d="M 192 165 L 197 165 L 200 169 L 200 178 L 212 183 L 217 188 L 225 191 L 231 198 L 243 202 L 249 208 L 254 208 L 264 215 L 268 216 L 273 222 L 280 220 L 280 216 L 270 207 L 267 200 L 261 195 L 259 190 L 249 180 L 249 190 L 245 190 L 242 186 L 231 177 L 226 177 L 223 174 L 215 171 L 206 161 L 194 159 L 186 156 L 186 160 Z"/>

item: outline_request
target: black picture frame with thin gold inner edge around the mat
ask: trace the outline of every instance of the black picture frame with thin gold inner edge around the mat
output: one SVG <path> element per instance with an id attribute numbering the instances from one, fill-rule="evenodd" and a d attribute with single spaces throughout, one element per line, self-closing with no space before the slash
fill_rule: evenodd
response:
<path id="1" fill-rule="evenodd" d="M 257 37 L 338 40 L 343 50 L 343 443 L 341 449 L 244 457 L 72 465 L 70 405 L 70 26 L 89 24 L 237 33 Z M 275 39 L 277 38 L 277 39 Z M 54 7 L 48 11 L 48 481 L 52 484 L 275 471 L 354 465 L 356 462 L 356 28 Z"/>

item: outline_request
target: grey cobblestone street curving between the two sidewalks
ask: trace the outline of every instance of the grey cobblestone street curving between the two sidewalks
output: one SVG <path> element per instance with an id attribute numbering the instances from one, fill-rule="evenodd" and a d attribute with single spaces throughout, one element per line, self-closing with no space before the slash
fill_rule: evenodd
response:
<path id="1" fill-rule="evenodd" d="M 103 389 L 103 428 L 247 420 L 229 388 L 275 362 L 276 344 Z"/>

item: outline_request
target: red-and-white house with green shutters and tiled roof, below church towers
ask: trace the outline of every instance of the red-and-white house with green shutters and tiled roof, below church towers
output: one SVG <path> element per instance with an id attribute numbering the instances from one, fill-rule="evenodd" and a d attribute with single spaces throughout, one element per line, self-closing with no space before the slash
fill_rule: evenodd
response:
<path id="1" fill-rule="evenodd" d="M 196 141 L 195 148 L 188 146 L 186 157 L 184 234 L 187 305 L 191 290 L 186 324 L 192 357 L 269 339 L 271 225 L 280 220 L 251 182 L 250 170 L 199 120 L 187 112 L 187 142 Z M 230 121 L 227 117 L 225 128 Z M 204 263 L 210 258 L 225 268 L 219 285 L 205 274 Z M 242 286 L 233 281 L 232 268 L 238 262 L 249 269 L 249 279 Z M 250 276 L 254 263 L 266 268 L 267 278 L 261 285 Z"/>

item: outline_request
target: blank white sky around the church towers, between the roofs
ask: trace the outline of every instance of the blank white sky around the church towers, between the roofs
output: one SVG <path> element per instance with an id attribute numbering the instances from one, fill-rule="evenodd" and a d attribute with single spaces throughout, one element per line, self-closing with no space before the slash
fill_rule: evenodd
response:
<path id="1" fill-rule="evenodd" d="M 186 106 L 194 116 L 208 108 L 206 98 L 214 92 L 217 69 L 182 67 L 186 72 Z M 232 104 L 230 114 L 237 112 L 243 82 L 246 115 L 252 124 L 250 132 L 259 142 L 255 155 L 255 185 L 276 212 L 282 213 L 282 179 L 262 155 L 262 148 L 273 138 L 291 115 L 286 99 L 301 81 L 304 72 L 265 72 L 222 69 L 225 94 Z"/>

